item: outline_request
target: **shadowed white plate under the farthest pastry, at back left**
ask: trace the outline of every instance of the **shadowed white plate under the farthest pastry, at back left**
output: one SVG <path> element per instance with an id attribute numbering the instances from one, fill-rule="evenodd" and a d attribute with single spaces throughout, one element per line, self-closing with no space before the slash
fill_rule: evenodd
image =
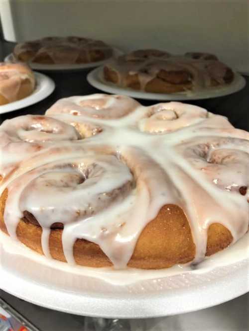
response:
<path id="1" fill-rule="evenodd" d="M 28 63 L 29 67 L 35 70 L 45 70 L 45 71 L 61 71 L 61 70 L 82 70 L 88 68 L 99 67 L 105 64 L 107 61 L 112 59 L 113 57 L 120 56 L 123 52 L 118 48 L 113 48 L 114 54 L 111 58 L 91 63 L 82 63 L 82 64 L 39 64 L 39 63 Z M 16 59 L 13 53 L 7 55 L 4 58 L 4 62 L 16 62 Z"/>

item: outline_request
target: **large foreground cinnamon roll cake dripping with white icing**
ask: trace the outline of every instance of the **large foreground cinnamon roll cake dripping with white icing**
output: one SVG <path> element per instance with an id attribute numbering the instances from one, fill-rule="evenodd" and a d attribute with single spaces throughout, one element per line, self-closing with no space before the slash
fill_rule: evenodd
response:
<path id="1" fill-rule="evenodd" d="M 3 122 L 0 155 L 0 229 L 47 258 L 167 268 L 248 231 L 249 133 L 201 107 L 64 98 Z"/>

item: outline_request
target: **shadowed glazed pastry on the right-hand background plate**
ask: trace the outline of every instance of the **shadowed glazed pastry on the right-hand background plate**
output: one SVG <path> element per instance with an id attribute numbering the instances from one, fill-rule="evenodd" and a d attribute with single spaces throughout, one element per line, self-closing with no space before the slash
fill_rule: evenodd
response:
<path id="1" fill-rule="evenodd" d="M 201 90 L 232 83 L 232 69 L 206 53 L 174 56 L 158 50 L 138 50 L 110 60 L 104 79 L 120 87 L 155 93 Z"/>

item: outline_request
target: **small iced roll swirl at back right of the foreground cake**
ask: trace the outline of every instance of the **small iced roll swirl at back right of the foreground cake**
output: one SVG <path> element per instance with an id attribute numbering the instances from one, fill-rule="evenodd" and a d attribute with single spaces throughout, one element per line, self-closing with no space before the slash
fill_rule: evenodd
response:
<path id="1" fill-rule="evenodd" d="M 141 131 L 163 134 L 196 124 L 209 116 L 206 109 L 181 102 L 158 103 L 147 107 L 146 117 L 138 121 Z"/>

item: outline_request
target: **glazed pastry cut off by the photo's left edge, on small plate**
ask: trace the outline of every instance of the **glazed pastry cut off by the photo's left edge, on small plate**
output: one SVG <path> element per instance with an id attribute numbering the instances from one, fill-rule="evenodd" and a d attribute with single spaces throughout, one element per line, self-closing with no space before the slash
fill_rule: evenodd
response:
<path id="1" fill-rule="evenodd" d="M 26 65 L 0 63 L 0 105 L 25 98 L 34 87 L 34 74 Z"/>

